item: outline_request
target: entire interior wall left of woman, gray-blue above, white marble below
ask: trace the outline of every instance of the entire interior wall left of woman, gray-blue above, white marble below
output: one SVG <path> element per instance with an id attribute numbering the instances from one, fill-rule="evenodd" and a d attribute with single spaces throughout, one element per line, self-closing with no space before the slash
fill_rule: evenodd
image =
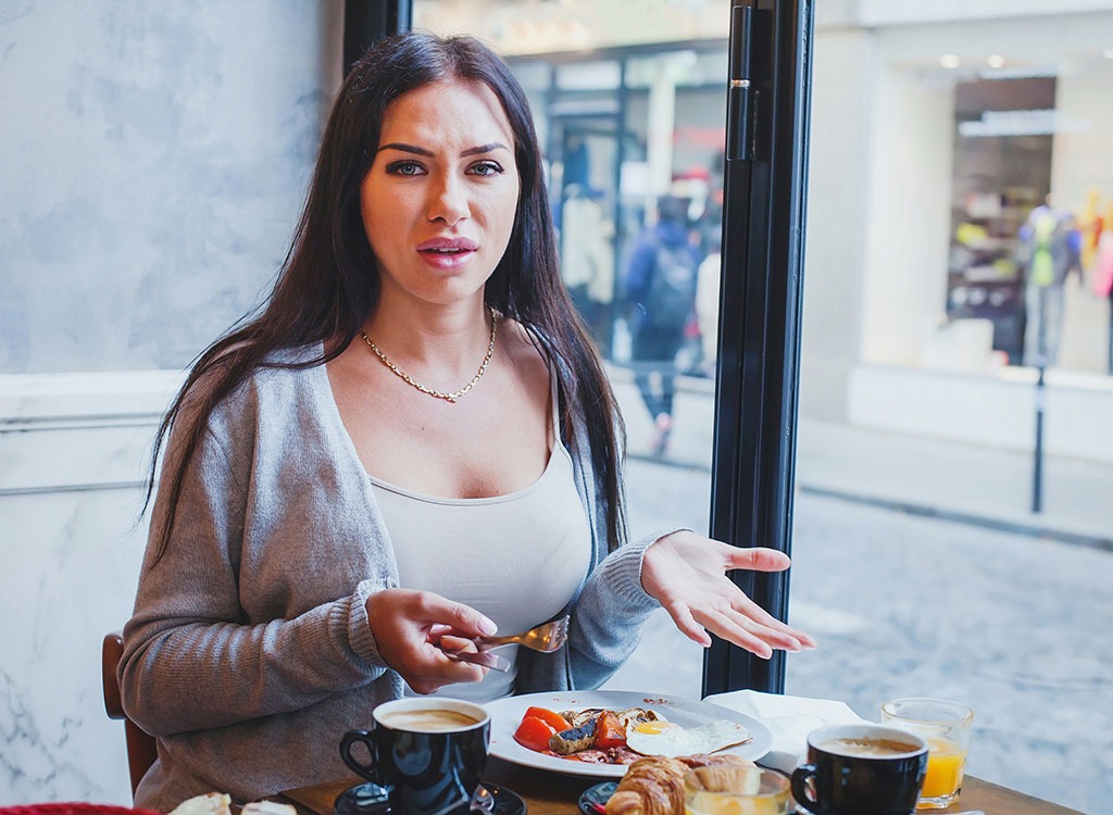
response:
<path id="1" fill-rule="evenodd" d="M 285 257 L 341 0 L 0 3 L 0 805 L 129 804 L 104 635 L 181 369 Z"/>

